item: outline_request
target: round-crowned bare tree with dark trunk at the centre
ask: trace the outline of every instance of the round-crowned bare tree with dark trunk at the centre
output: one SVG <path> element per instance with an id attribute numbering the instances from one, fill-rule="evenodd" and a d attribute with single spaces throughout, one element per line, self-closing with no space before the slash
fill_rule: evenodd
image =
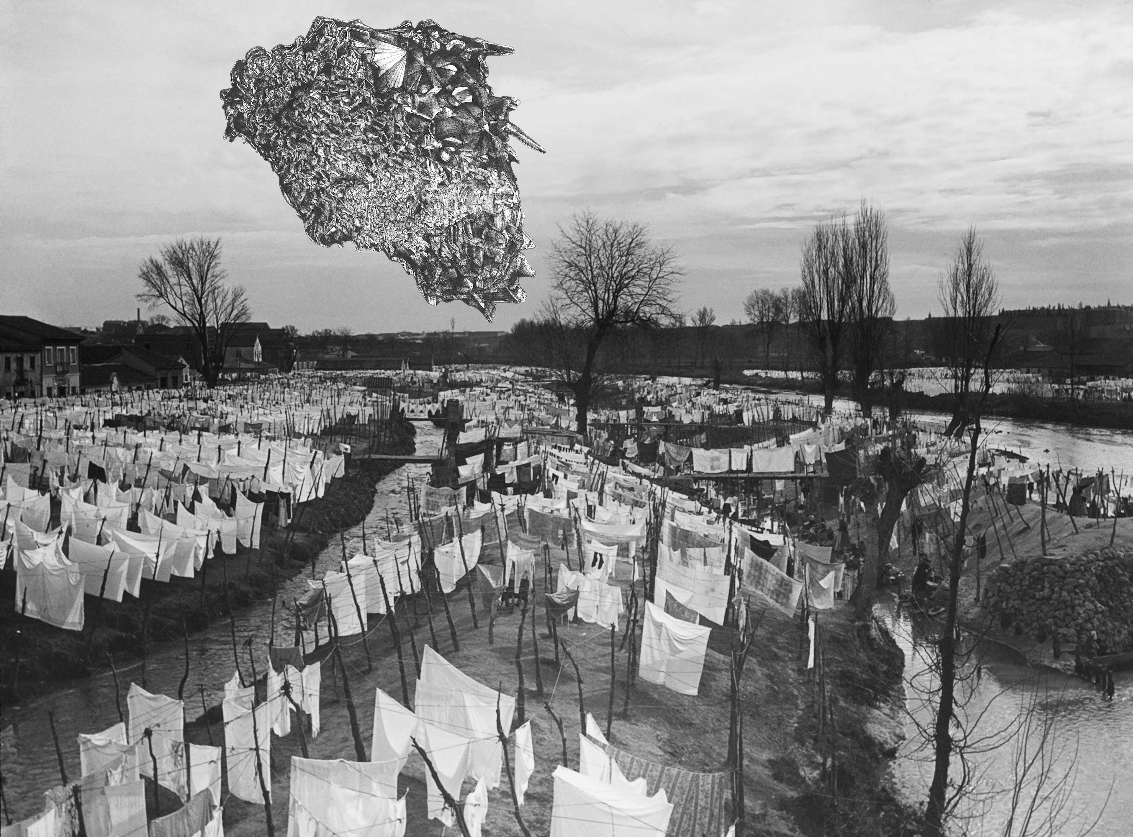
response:
<path id="1" fill-rule="evenodd" d="M 638 223 L 587 212 L 559 236 L 546 317 L 563 349 L 555 374 L 574 394 L 578 432 L 585 435 L 603 341 L 617 328 L 667 323 L 683 271 L 672 249 L 650 242 Z"/>

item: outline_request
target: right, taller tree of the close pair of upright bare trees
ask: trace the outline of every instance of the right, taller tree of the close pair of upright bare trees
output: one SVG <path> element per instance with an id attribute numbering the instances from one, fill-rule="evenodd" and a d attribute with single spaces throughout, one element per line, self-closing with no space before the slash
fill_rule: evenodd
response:
<path id="1" fill-rule="evenodd" d="M 850 305 L 850 359 L 854 398 L 862 416 L 872 415 L 869 382 L 879 368 L 896 300 L 889 288 L 889 244 L 885 214 L 864 200 L 843 239 L 843 270 Z"/>

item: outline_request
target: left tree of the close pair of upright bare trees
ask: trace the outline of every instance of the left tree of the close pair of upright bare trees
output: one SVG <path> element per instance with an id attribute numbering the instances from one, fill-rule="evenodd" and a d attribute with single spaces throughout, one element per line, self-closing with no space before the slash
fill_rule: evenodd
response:
<path id="1" fill-rule="evenodd" d="M 850 292 L 842 264 L 849 234 L 844 217 L 818 224 L 802 246 L 800 263 L 799 322 L 817 356 L 827 415 L 834 410 L 834 391 L 838 384 L 850 315 Z"/>

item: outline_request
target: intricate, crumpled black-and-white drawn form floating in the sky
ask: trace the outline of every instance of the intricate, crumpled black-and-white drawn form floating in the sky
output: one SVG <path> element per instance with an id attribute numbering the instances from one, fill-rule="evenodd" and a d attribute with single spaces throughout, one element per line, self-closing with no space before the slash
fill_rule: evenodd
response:
<path id="1" fill-rule="evenodd" d="M 224 136 L 271 163 L 312 239 L 382 250 L 432 305 L 460 299 L 492 319 L 535 275 L 508 143 L 543 148 L 511 123 L 519 102 L 492 93 L 485 65 L 511 52 L 432 20 L 317 17 L 293 44 L 236 62 Z"/>

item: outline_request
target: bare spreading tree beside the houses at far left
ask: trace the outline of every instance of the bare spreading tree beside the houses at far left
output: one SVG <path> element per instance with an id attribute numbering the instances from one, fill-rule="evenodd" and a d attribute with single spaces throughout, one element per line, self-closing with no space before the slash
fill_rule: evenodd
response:
<path id="1" fill-rule="evenodd" d="M 244 287 L 225 283 L 220 255 L 219 238 L 178 239 L 161 249 L 160 259 L 151 256 L 138 271 L 138 301 L 151 309 L 168 307 L 193 330 L 199 347 L 195 367 L 210 386 L 220 378 L 232 336 L 252 318 Z"/>

